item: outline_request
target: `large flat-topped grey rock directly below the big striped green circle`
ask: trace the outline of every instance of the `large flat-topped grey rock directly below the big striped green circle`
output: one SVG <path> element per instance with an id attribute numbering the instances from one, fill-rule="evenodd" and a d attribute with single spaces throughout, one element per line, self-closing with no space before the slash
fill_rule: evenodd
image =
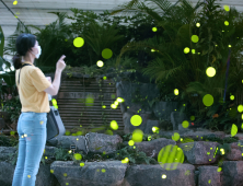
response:
<path id="1" fill-rule="evenodd" d="M 165 170 L 161 165 L 131 165 L 127 168 L 123 186 L 195 186 L 194 165 L 181 164 L 176 170 Z M 166 176 L 162 178 L 162 175 Z"/>

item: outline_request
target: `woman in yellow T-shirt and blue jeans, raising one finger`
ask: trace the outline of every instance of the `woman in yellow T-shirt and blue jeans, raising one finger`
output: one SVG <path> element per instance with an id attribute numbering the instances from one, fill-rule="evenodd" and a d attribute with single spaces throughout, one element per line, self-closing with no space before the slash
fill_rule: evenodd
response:
<path id="1" fill-rule="evenodd" d="M 34 186 L 39 162 L 46 146 L 47 113 L 50 112 L 48 94 L 55 95 L 60 85 L 60 74 L 65 69 L 65 56 L 57 62 L 54 83 L 35 67 L 42 49 L 32 34 L 21 34 L 15 43 L 18 55 L 13 57 L 16 70 L 15 82 L 22 104 L 18 121 L 19 155 L 12 186 Z M 28 65 L 22 67 L 23 65 Z"/>

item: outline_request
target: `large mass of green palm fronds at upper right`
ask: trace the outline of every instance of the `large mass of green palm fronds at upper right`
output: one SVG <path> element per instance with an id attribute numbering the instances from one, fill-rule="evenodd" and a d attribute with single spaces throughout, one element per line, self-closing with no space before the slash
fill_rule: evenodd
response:
<path id="1" fill-rule="evenodd" d="M 155 50 L 155 59 L 150 61 L 142 72 L 151 79 L 154 78 L 159 84 L 171 79 L 170 82 L 174 83 L 172 88 L 176 86 L 181 92 L 181 100 L 188 101 L 192 109 L 207 113 L 201 102 L 202 97 L 211 94 L 215 103 L 223 98 L 227 62 L 230 57 L 231 63 L 234 65 L 230 67 L 227 93 L 229 95 L 229 92 L 235 91 L 236 104 L 240 104 L 243 98 L 240 93 L 243 89 L 240 60 L 243 19 L 234 8 L 225 12 L 215 1 L 208 0 L 207 4 L 198 1 L 193 7 L 186 0 L 181 0 L 181 5 L 172 5 L 167 0 L 146 0 L 144 2 L 157 5 L 148 8 L 143 2 L 131 0 L 121 9 L 115 10 L 112 14 L 124 10 L 144 12 L 155 20 L 158 30 L 164 30 L 162 35 L 125 45 L 116 65 L 119 65 L 119 58 L 127 51 L 144 48 L 146 53 L 151 54 L 151 49 Z M 201 7 L 202 10 L 198 12 Z M 200 24 L 199 28 L 197 23 Z M 192 40 L 194 35 L 199 36 L 199 42 Z M 186 53 L 186 47 L 192 53 Z M 206 75 L 208 67 L 216 69 L 213 78 Z M 195 93 L 198 96 L 194 96 Z M 229 100 L 228 96 L 227 98 Z"/>

